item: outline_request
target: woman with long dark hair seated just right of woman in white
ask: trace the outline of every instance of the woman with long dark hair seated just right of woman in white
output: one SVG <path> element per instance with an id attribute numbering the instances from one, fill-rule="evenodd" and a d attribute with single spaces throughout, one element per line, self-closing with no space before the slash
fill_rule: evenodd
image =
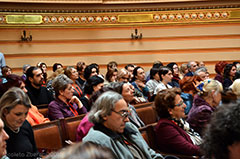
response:
<path id="1" fill-rule="evenodd" d="M 171 62 L 167 64 L 167 67 L 169 67 L 173 73 L 173 78 L 172 81 L 169 83 L 172 87 L 177 87 L 179 88 L 179 68 L 178 65 L 175 62 Z"/>

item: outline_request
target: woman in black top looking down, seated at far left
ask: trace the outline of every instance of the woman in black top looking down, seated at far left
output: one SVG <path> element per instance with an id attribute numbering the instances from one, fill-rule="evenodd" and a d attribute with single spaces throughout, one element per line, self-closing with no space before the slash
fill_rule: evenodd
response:
<path id="1" fill-rule="evenodd" d="M 11 159 L 39 157 L 32 127 L 26 120 L 29 108 L 31 102 L 20 88 L 10 88 L 0 100 L 0 115 L 9 135 L 7 156 Z"/>

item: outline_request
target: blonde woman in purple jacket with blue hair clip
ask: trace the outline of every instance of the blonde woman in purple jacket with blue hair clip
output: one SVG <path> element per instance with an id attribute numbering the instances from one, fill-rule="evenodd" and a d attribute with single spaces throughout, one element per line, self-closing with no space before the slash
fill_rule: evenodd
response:
<path id="1" fill-rule="evenodd" d="M 223 88 L 220 82 L 212 79 L 202 81 L 197 88 L 199 92 L 193 99 L 187 121 L 196 132 L 202 135 L 212 113 L 221 101 Z"/>

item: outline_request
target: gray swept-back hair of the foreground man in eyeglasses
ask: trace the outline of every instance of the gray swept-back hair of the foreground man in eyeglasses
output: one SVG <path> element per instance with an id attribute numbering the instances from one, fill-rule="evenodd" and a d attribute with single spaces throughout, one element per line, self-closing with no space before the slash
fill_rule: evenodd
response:
<path id="1" fill-rule="evenodd" d="M 103 123 L 103 117 L 110 115 L 115 108 L 115 104 L 123 99 L 122 95 L 113 91 L 107 91 L 103 93 L 94 103 L 88 119 L 93 124 Z"/>

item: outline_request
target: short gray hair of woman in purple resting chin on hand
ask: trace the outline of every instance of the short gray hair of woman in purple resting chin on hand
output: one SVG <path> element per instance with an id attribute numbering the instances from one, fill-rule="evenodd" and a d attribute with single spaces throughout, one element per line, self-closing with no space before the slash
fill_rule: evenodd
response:
<path id="1" fill-rule="evenodd" d="M 73 81 L 64 74 L 58 75 L 52 83 L 52 87 L 56 93 L 56 97 L 59 95 L 60 90 L 65 90 L 68 84 L 72 84 Z"/>

